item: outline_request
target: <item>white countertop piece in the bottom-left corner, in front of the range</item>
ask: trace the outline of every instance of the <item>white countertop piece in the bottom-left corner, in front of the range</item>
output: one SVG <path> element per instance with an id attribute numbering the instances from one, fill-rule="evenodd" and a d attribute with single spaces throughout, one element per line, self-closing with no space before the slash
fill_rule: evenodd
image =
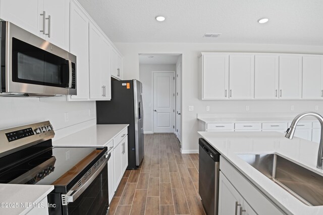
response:
<path id="1" fill-rule="evenodd" d="M 17 203 L 18 207 L 0 207 L 0 214 L 26 214 L 29 203 L 38 203 L 54 189 L 52 185 L 0 184 L 0 203 Z M 24 205 L 21 205 L 23 203 Z M 26 204 L 25 204 L 26 203 Z M 11 205 L 7 205 L 11 206 Z M 47 205 L 45 205 L 47 207 Z"/>

